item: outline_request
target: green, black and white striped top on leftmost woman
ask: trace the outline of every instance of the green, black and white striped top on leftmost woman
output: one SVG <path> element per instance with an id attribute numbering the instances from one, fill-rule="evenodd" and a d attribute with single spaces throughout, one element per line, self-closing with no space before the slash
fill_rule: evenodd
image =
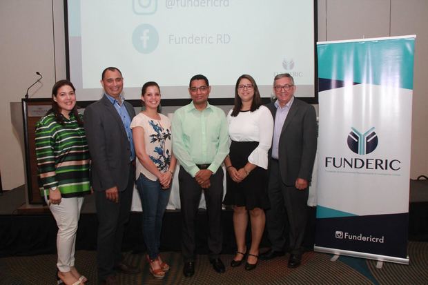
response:
<path id="1" fill-rule="evenodd" d="M 90 157 L 83 126 L 75 116 L 64 119 L 64 126 L 49 113 L 36 124 L 36 157 L 40 193 L 49 195 L 57 186 L 62 197 L 81 197 L 90 193 Z"/>

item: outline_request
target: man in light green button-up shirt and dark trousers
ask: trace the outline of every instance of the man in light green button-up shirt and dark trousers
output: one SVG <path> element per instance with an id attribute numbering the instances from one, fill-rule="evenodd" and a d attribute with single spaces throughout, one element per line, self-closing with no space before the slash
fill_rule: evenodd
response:
<path id="1" fill-rule="evenodd" d="M 223 169 L 228 155 L 228 126 L 222 109 L 208 104 L 211 86 L 204 75 L 191 78 L 188 91 L 192 102 L 175 111 L 173 153 L 180 163 L 179 195 L 182 206 L 183 273 L 195 273 L 195 219 L 202 190 L 208 215 L 208 249 L 217 273 L 225 268 L 222 251 Z"/>

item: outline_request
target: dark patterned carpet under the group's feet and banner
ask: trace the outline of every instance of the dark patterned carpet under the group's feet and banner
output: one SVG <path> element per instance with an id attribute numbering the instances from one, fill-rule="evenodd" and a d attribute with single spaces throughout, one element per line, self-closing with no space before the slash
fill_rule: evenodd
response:
<path id="1" fill-rule="evenodd" d="M 303 255 L 299 268 L 286 267 L 287 257 L 260 261 L 254 271 L 245 271 L 244 266 L 231 268 L 232 255 L 222 255 L 226 273 L 213 271 L 206 255 L 196 260 L 196 273 L 191 278 L 182 275 L 182 256 L 177 252 L 162 253 L 171 265 L 171 271 L 163 280 L 154 279 L 148 273 L 144 255 L 126 253 L 126 261 L 141 266 L 139 275 L 118 275 L 120 284 L 428 284 L 428 243 L 409 242 L 410 264 L 384 263 L 376 268 L 376 261 L 355 257 L 339 257 L 331 262 L 331 255 L 309 252 Z M 77 268 L 97 284 L 96 253 L 79 250 L 76 254 Z M 55 255 L 30 257 L 6 257 L 0 259 L 1 285 L 50 285 L 55 281 Z"/>

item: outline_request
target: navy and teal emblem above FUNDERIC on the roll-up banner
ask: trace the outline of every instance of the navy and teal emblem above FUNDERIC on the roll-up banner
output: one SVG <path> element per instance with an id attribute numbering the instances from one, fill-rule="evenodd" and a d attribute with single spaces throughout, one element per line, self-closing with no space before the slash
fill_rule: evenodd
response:
<path id="1" fill-rule="evenodd" d="M 351 128 L 352 131 L 348 135 L 349 149 L 358 155 L 368 155 L 373 152 L 378 146 L 378 135 L 374 132 L 374 127 L 367 130 L 363 134 L 356 128 Z"/>

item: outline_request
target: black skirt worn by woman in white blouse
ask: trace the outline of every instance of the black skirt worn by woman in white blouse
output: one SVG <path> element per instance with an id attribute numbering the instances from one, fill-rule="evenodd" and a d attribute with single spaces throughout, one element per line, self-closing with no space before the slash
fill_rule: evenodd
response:
<path id="1" fill-rule="evenodd" d="M 249 155 L 258 145 L 258 141 L 232 141 L 229 150 L 232 166 L 237 170 L 244 167 L 248 162 Z M 226 185 L 224 205 L 245 206 L 247 210 L 270 207 L 267 194 L 268 172 L 266 169 L 257 166 L 240 183 L 233 181 L 227 174 Z"/>

